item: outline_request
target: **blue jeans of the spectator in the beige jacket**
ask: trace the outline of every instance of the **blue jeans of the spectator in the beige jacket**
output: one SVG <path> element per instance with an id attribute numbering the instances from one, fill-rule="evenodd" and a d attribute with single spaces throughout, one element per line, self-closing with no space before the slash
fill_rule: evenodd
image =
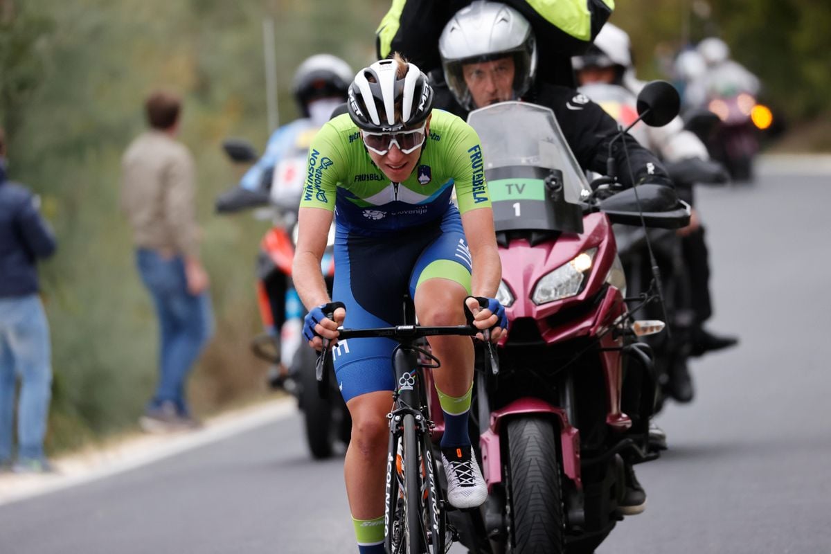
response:
<path id="1" fill-rule="evenodd" d="M 181 415 L 188 414 L 185 380 L 214 330 L 208 292 L 188 292 L 184 259 L 165 259 L 158 252 L 139 248 L 135 254 L 141 280 L 150 291 L 159 316 L 159 385 L 149 408 L 172 402 Z"/>

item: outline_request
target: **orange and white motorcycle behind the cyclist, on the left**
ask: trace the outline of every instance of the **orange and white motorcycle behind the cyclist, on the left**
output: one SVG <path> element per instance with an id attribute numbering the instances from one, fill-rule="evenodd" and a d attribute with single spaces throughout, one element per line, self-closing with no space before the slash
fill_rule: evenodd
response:
<path id="1" fill-rule="evenodd" d="M 235 163 L 251 163 L 256 150 L 243 140 L 225 140 L 225 153 Z M 283 388 L 297 398 L 303 413 L 306 440 L 313 458 L 332 456 L 336 444 L 349 444 L 352 418 L 337 380 L 329 380 L 330 390 L 318 394 L 315 365 L 317 357 L 302 340 L 302 318 L 306 315 L 292 284 L 294 245 L 297 243 L 297 210 L 302 194 L 307 150 L 298 148 L 286 156 L 272 172 L 263 174 L 258 190 L 234 187 L 216 201 L 218 213 L 238 213 L 256 209 L 259 218 L 269 218 L 271 228 L 260 241 L 257 258 L 257 300 L 264 331 L 253 338 L 251 349 L 271 364 L 269 385 Z M 321 269 L 332 290 L 335 263 L 334 227 L 330 229 L 327 251 Z"/>

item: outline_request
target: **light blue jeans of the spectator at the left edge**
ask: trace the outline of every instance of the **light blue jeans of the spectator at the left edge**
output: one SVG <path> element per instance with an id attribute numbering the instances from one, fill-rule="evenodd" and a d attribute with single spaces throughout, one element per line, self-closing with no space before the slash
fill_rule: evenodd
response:
<path id="1" fill-rule="evenodd" d="M 12 459 L 17 376 L 17 458 L 43 458 L 52 397 L 51 358 L 49 325 L 40 297 L 0 298 L 0 462 Z"/>

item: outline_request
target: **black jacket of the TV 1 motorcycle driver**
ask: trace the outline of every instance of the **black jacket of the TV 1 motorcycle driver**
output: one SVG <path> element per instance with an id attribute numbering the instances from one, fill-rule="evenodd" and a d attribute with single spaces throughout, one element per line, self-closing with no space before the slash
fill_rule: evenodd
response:
<path id="1" fill-rule="evenodd" d="M 455 101 L 446 85 L 438 84 L 434 89 L 434 107 L 467 119 L 467 112 Z M 606 160 L 609 144 L 612 143 L 615 176 L 620 183 L 627 187 L 641 182 L 672 186 L 669 174 L 656 155 L 640 145 L 632 135 L 623 135 L 612 142 L 618 133 L 617 121 L 588 96 L 568 86 L 538 82 L 523 97 L 523 101 L 551 108 L 581 168 L 607 174 Z"/>

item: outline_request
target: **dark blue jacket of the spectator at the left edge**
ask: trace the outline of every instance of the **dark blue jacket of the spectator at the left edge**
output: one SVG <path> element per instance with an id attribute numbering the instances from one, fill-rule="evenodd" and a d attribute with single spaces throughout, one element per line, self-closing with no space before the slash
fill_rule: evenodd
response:
<path id="1" fill-rule="evenodd" d="M 0 160 L 0 298 L 37 292 L 35 262 L 52 255 L 55 247 L 37 198 L 29 189 L 6 180 L 6 167 Z"/>

